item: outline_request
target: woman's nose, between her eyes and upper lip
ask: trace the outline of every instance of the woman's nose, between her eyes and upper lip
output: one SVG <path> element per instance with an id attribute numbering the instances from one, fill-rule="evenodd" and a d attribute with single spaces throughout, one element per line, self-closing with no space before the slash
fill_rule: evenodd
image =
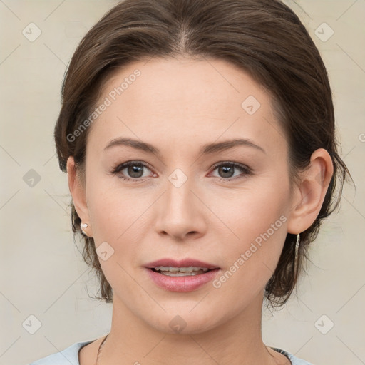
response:
<path id="1" fill-rule="evenodd" d="M 156 232 L 180 242 L 205 235 L 207 213 L 210 211 L 202 202 L 204 197 L 200 195 L 189 179 L 180 187 L 168 180 L 157 207 Z"/>

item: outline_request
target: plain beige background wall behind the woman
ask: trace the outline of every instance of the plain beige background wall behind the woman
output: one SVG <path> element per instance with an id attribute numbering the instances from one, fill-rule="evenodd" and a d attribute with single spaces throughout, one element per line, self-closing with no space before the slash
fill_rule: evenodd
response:
<path id="1" fill-rule="evenodd" d="M 96 281 L 73 243 L 68 185 L 58 170 L 53 126 L 66 65 L 81 37 L 113 4 L 0 0 L 1 365 L 28 364 L 110 328 L 111 304 L 89 298 Z M 341 156 L 356 191 L 345 186 L 341 210 L 312 245 L 299 299 L 293 296 L 274 314 L 264 311 L 263 337 L 269 346 L 313 364 L 365 364 L 365 1 L 287 4 L 327 65 Z M 35 41 L 22 34 L 31 22 L 41 29 Z M 324 22 L 334 31 L 327 41 L 315 34 Z M 322 38 L 329 35 L 327 26 L 321 29 Z M 33 187 L 24 181 L 31 169 L 41 178 Z M 30 315 L 41 322 L 34 334 L 24 324 L 31 320 L 36 329 Z"/>

